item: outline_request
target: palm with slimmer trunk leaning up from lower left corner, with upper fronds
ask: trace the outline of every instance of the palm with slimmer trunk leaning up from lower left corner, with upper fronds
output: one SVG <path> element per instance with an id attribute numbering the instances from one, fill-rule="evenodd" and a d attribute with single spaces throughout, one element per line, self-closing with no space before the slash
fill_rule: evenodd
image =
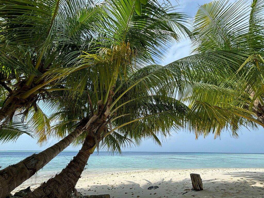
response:
<path id="1" fill-rule="evenodd" d="M 124 14 L 123 16 L 122 15 L 119 16 L 115 12 L 116 6 L 120 6 L 119 12 L 121 14 Z M 154 6 L 154 8 L 156 10 L 152 9 L 151 11 L 154 11 L 154 12 L 152 13 L 152 15 L 148 16 L 146 13 L 150 12 L 150 8 L 152 6 Z M 87 8 L 87 6 L 85 7 L 85 9 L 86 8 Z M 85 9 L 83 8 L 83 10 L 85 10 Z M 81 58 L 80 60 L 85 61 L 85 62 L 82 63 L 79 61 L 76 63 L 76 61 L 78 60 L 77 59 L 77 60 L 75 60 L 75 62 L 71 61 L 70 64 L 72 64 L 72 65 L 70 65 L 69 67 L 68 67 L 68 65 L 69 65 L 68 64 L 65 68 L 64 67 L 62 67 L 60 69 L 56 68 L 56 70 L 55 69 L 49 70 L 49 72 L 46 72 L 43 74 L 45 79 L 55 79 L 55 80 L 58 80 L 60 83 L 63 84 L 63 88 L 53 88 L 52 89 L 53 92 L 56 93 L 58 91 L 63 91 L 63 90 L 66 91 L 67 90 L 67 92 L 65 92 L 66 95 L 67 94 L 71 95 L 72 93 L 74 93 L 76 91 L 76 89 L 78 89 L 78 91 L 80 93 L 82 93 L 84 87 L 86 86 L 86 83 L 84 84 L 85 86 L 83 86 L 83 82 L 87 82 L 88 78 L 90 78 L 92 80 L 91 82 L 93 82 L 96 85 L 96 83 L 98 81 L 96 79 L 97 73 L 101 72 L 101 75 L 100 75 L 101 79 L 99 80 L 99 82 L 103 82 L 103 83 L 100 83 L 101 86 L 103 86 L 103 87 L 102 88 L 100 87 L 99 94 L 101 94 L 102 97 L 108 98 L 107 95 L 109 95 L 109 93 L 112 92 L 112 90 L 110 88 L 112 86 L 114 86 L 114 84 L 116 84 L 115 81 L 117 80 L 118 75 L 124 76 L 123 80 L 124 81 L 126 80 L 126 78 L 125 78 L 126 75 L 124 75 L 124 74 L 126 72 L 130 71 L 130 68 L 126 68 L 126 65 L 129 65 L 129 66 L 132 65 L 131 64 L 131 58 L 132 57 L 139 59 L 136 67 L 138 67 L 138 65 L 142 64 L 143 62 L 147 62 L 147 61 L 151 62 L 151 61 L 153 61 L 153 57 L 155 57 L 155 56 L 159 57 L 161 54 L 159 52 L 166 49 L 164 46 L 158 45 L 161 40 L 168 39 L 167 45 L 169 45 L 169 43 L 173 39 L 179 38 L 176 31 L 183 32 L 183 33 L 185 31 L 188 32 L 188 30 L 182 24 L 182 21 L 184 22 L 184 20 L 186 19 L 185 15 L 182 15 L 181 13 L 176 13 L 176 12 L 172 12 L 172 13 L 168 14 L 167 12 L 173 11 L 174 8 L 169 8 L 169 6 L 166 6 L 166 9 L 165 8 L 160 9 L 159 7 L 157 7 L 157 4 L 155 4 L 155 2 L 149 2 L 148 5 L 146 6 L 146 8 L 143 9 L 143 11 L 145 12 L 144 16 L 138 16 L 138 15 L 134 14 L 133 2 L 130 3 L 129 5 L 125 5 L 124 1 L 117 1 L 117 2 L 113 1 L 110 4 L 110 6 L 107 7 L 107 9 L 103 10 L 102 7 L 100 9 L 102 11 L 102 14 L 108 14 L 109 15 L 109 17 L 106 17 L 106 19 L 108 19 L 107 26 L 105 26 L 104 30 L 101 29 L 102 27 L 97 27 L 99 29 L 98 30 L 99 33 L 97 32 L 97 33 L 94 33 L 92 35 L 89 34 L 89 35 L 91 35 L 90 38 L 86 38 L 86 40 L 85 40 L 86 43 L 84 43 L 82 48 L 81 48 L 81 49 L 86 51 L 86 55 L 80 56 L 80 58 Z M 122 9 L 126 9 L 126 10 L 122 10 Z M 127 12 L 127 11 L 129 11 L 129 12 Z M 156 16 L 154 16 L 154 13 L 156 14 Z M 129 17 L 129 15 L 131 15 L 131 16 Z M 69 14 L 69 16 L 71 17 L 70 19 L 72 20 L 72 15 Z M 101 17 L 103 18 L 103 16 L 101 16 Z M 69 21 L 69 19 L 67 19 L 67 21 Z M 73 25 L 76 25 L 76 24 L 73 24 Z M 78 24 L 76 26 L 78 27 Z M 124 27 L 127 29 L 127 30 L 125 30 L 125 32 L 123 32 Z M 76 27 L 74 26 L 72 28 L 76 28 Z M 67 31 L 69 31 L 69 30 L 66 30 L 66 32 Z M 159 31 L 159 32 L 156 32 L 156 31 Z M 105 32 L 105 33 L 100 34 L 100 32 Z M 166 34 L 164 34 L 164 33 L 166 33 Z M 87 31 L 85 31 L 83 33 L 83 35 L 86 35 L 86 34 L 88 34 Z M 140 34 L 142 34 L 142 35 L 140 35 Z M 156 39 L 149 39 L 148 38 L 149 36 L 150 37 L 154 36 L 154 37 L 156 37 Z M 136 38 L 136 39 L 134 39 L 134 38 Z M 63 39 L 65 39 L 65 38 L 63 38 Z M 68 38 L 66 37 L 66 39 L 68 39 Z M 148 41 L 146 39 L 148 39 Z M 67 42 L 66 41 L 63 41 L 63 42 L 67 43 L 68 41 Z M 133 49 L 130 48 L 129 42 L 125 43 L 124 41 L 126 41 L 126 42 L 129 41 L 130 43 L 132 43 Z M 111 46 L 113 46 L 113 44 L 115 44 L 115 43 L 121 43 L 122 45 L 121 46 L 116 45 L 116 47 L 111 48 Z M 109 50 L 106 50 L 107 49 L 106 47 L 110 47 Z M 156 49 L 157 47 L 159 47 L 159 49 Z M 72 46 L 71 46 L 71 49 L 72 49 Z M 99 53 L 97 53 L 98 49 L 101 49 Z M 124 51 L 124 49 L 126 49 L 126 50 Z M 117 58 L 113 59 L 112 56 L 109 56 L 108 53 L 110 51 L 111 51 L 112 55 L 117 56 Z M 147 53 L 146 53 L 146 51 L 147 51 Z M 123 52 L 125 54 L 123 54 Z M 60 55 L 60 52 L 58 52 L 58 53 Z M 104 55 L 105 53 L 107 56 Z M 115 54 L 115 53 L 117 53 L 117 54 Z M 75 51 L 73 51 L 73 52 L 71 51 L 71 52 L 69 52 L 69 54 L 76 56 Z M 125 55 L 125 57 L 124 57 L 124 55 Z M 62 57 L 62 56 L 60 56 L 60 57 Z M 118 59 L 118 57 L 120 59 Z M 118 60 L 115 60 L 115 59 L 118 59 Z M 103 67 L 100 68 L 101 66 L 104 66 L 105 68 L 107 68 L 109 65 L 111 66 L 112 65 L 111 62 L 114 60 L 116 61 L 116 65 L 113 65 L 114 67 L 112 67 L 112 68 L 110 67 L 109 68 L 110 70 L 103 70 Z M 125 64 L 118 63 L 118 61 L 121 61 L 121 60 L 125 61 Z M 128 61 L 128 63 L 126 63 L 126 61 Z M 120 67 L 124 67 L 124 66 L 125 66 L 125 68 L 120 68 Z M 134 67 L 134 69 L 136 69 L 136 67 Z M 92 70 L 93 68 L 96 68 L 96 71 L 91 73 L 93 71 Z M 107 71 L 107 73 L 106 73 L 106 71 Z M 92 74 L 92 76 L 87 75 L 87 72 Z M 111 76 L 111 75 L 107 76 L 107 75 L 111 74 L 111 72 L 113 72 L 114 76 Z M 104 74 L 104 73 L 106 73 L 106 74 Z M 69 75 L 69 77 L 65 78 L 65 76 L 67 76 L 67 75 Z M 112 82 L 106 81 L 105 78 L 107 78 L 107 77 L 112 78 L 113 81 Z M 56 82 L 58 82 L 58 81 L 56 81 Z M 55 83 L 55 85 L 57 85 L 57 84 L 58 83 Z M 106 85 L 108 86 L 107 88 L 105 87 Z M 32 89 L 34 89 L 34 88 L 32 88 Z M 94 91 L 96 91 L 97 89 L 99 89 L 99 88 L 98 87 L 93 88 Z M 46 91 L 44 91 L 43 93 L 46 93 Z M 52 92 L 49 93 L 50 97 L 45 98 L 45 101 L 52 100 L 53 99 L 52 94 L 53 94 Z M 111 94 L 109 95 L 109 97 L 111 97 Z M 98 98 L 96 101 L 98 101 Z M 103 114 L 101 112 L 105 111 L 106 102 L 107 102 L 107 100 L 106 101 L 104 100 L 102 105 L 100 106 L 100 108 L 98 107 L 98 109 L 97 109 L 97 111 L 99 112 L 99 113 L 97 112 L 97 114 L 100 114 L 100 116 L 103 116 Z M 32 107 L 31 107 L 31 109 L 32 109 Z M 31 109 L 29 108 L 28 111 L 30 111 Z M 40 116 L 43 116 L 43 115 L 44 115 L 43 113 L 40 113 Z M 41 122 L 41 120 L 39 120 L 38 118 L 39 118 L 39 116 L 36 116 L 35 119 L 33 119 L 33 121 L 34 121 L 33 124 L 36 124 L 36 126 L 37 126 L 36 131 L 41 132 L 43 126 L 41 126 L 41 124 L 40 124 L 41 127 L 39 127 L 39 122 Z M 95 117 L 93 117 L 93 119 L 94 118 Z M 71 138 L 70 142 L 69 141 L 65 142 L 65 140 L 68 140 L 67 139 L 68 136 L 67 136 L 66 139 L 64 138 L 61 141 L 61 143 L 63 143 L 64 146 L 67 146 L 67 145 L 69 145 L 69 143 L 74 141 L 74 139 L 78 135 L 83 133 L 83 131 L 86 131 L 85 134 L 89 134 L 87 131 L 91 131 L 92 129 L 89 129 L 89 127 L 84 128 L 84 126 L 85 125 L 88 126 L 89 123 L 91 122 L 91 120 L 93 120 L 93 119 L 90 119 L 90 121 L 89 121 L 89 120 L 87 120 L 87 117 L 82 116 L 82 118 L 80 120 L 78 120 L 78 123 L 75 123 L 75 125 L 73 125 L 73 126 L 75 126 L 75 129 L 69 130 L 71 132 L 68 136 L 71 136 L 72 133 L 74 133 L 74 138 Z M 106 116 L 101 117 L 100 119 L 97 118 L 97 121 L 98 120 L 102 121 L 102 119 L 106 119 Z M 95 126 L 96 126 L 96 124 L 95 124 Z M 93 128 L 95 126 L 93 126 Z M 98 126 L 96 126 L 96 127 L 98 127 Z M 39 130 L 39 128 L 41 130 Z M 100 130 L 100 132 L 101 132 L 101 130 Z M 44 136 L 44 139 L 46 138 L 45 137 L 46 134 L 38 134 L 38 135 L 40 135 L 41 137 Z M 55 148 L 55 150 L 54 150 L 54 148 Z M 32 164 L 33 170 L 29 171 L 28 168 L 25 166 L 17 166 L 17 165 L 19 165 L 19 163 L 12 165 L 10 167 L 7 167 L 7 169 L 4 169 L 3 170 L 4 172 L 6 172 L 7 170 L 11 170 L 13 168 L 15 168 L 16 171 L 14 173 L 9 172 L 10 174 L 8 175 L 8 177 L 3 179 L 3 183 L 5 185 L 2 185 L 2 186 L 6 186 L 6 185 L 9 186 L 9 188 L 5 188 L 5 190 L 3 190 L 3 192 L 4 192 L 3 195 L 7 194 L 11 190 L 13 190 L 16 186 L 18 186 L 21 182 L 25 181 L 27 178 L 32 176 L 32 174 L 34 174 L 37 170 L 39 170 L 39 168 L 42 168 L 46 163 L 48 163 L 49 160 L 51 160 L 53 157 L 55 157 L 64 148 L 66 148 L 66 147 L 58 148 L 57 144 L 55 144 L 53 147 L 50 147 L 47 150 L 45 150 L 45 151 L 43 151 L 37 155 L 31 156 L 31 157 L 23 160 L 20 163 L 20 164 L 22 164 L 22 163 L 26 162 L 26 163 L 31 164 L 33 162 L 33 164 Z M 49 153 L 50 151 L 53 151 L 53 153 Z M 45 156 L 44 154 L 47 154 L 47 153 L 49 153 L 48 160 L 44 159 L 44 156 Z M 27 174 L 20 177 L 18 175 L 18 173 L 21 173 L 21 172 L 25 172 Z M 19 178 L 19 181 L 12 180 L 13 178 Z"/>

